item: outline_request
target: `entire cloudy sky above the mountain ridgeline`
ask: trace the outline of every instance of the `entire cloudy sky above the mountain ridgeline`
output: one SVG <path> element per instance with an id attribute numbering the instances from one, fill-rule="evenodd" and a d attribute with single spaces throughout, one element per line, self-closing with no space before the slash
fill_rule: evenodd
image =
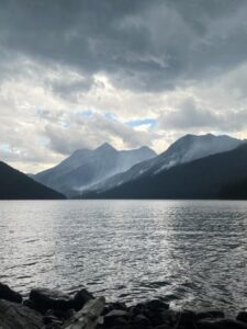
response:
<path id="1" fill-rule="evenodd" d="M 246 0 L 0 0 L 0 160 L 247 138 Z"/>

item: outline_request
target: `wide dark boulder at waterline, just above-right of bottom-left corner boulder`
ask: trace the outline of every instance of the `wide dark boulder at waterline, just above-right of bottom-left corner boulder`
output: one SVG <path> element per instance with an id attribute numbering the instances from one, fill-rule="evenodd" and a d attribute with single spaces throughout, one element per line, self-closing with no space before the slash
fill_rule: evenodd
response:
<path id="1" fill-rule="evenodd" d="M 32 290 L 30 300 L 33 308 L 42 313 L 47 309 L 68 310 L 72 308 L 72 299 L 68 295 L 47 288 Z"/>

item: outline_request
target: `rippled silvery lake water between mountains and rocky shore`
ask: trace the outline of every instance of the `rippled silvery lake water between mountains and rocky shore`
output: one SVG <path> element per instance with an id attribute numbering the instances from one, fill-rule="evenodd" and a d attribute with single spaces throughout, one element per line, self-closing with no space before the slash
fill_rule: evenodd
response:
<path id="1" fill-rule="evenodd" d="M 247 306 L 247 202 L 1 201 L 0 282 Z"/>

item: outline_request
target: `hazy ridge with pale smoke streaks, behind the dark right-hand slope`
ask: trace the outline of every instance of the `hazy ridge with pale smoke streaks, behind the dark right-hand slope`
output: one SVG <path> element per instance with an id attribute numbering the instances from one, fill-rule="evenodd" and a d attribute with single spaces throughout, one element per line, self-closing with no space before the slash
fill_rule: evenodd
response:
<path id="1" fill-rule="evenodd" d="M 232 150 L 239 146 L 242 143 L 243 140 L 225 135 L 186 135 L 175 141 L 161 155 L 150 160 L 141 162 L 126 172 L 111 177 L 110 179 L 91 186 L 90 191 L 102 193 L 104 191 L 131 182 L 132 180 L 136 180 L 137 178 L 145 177 L 147 172 L 149 172 L 149 174 L 156 174 L 180 163 L 186 163 L 210 155 Z M 82 194 L 88 194 L 88 192 L 89 191 L 83 191 Z"/>

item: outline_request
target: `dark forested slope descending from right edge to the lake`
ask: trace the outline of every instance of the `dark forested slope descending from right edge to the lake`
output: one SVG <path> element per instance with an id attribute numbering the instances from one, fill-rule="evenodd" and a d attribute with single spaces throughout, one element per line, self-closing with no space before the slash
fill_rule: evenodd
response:
<path id="1" fill-rule="evenodd" d="M 89 192 L 88 198 L 218 198 L 224 186 L 247 177 L 247 144 L 234 150 L 153 170 L 108 191 Z"/>

